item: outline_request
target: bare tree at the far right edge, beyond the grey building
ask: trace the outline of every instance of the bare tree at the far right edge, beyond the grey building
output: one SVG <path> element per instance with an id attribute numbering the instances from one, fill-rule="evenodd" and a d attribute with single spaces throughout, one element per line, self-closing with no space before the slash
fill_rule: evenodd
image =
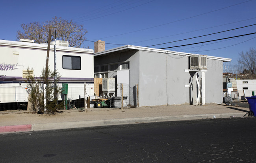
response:
<path id="1" fill-rule="evenodd" d="M 256 50 L 250 48 L 247 52 L 239 53 L 238 63 L 243 69 L 248 70 L 250 78 L 255 79 L 256 77 Z"/>

